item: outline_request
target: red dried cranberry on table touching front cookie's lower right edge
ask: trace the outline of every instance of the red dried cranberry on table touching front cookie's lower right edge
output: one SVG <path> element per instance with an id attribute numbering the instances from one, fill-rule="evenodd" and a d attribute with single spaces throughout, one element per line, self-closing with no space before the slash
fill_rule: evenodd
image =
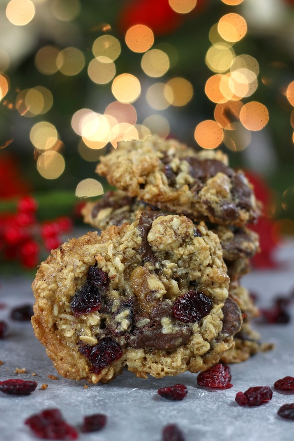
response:
<path id="1" fill-rule="evenodd" d="M 207 388 L 230 389 L 233 386 L 230 383 L 231 378 L 230 368 L 219 363 L 200 372 L 197 376 L 197 384 Z"/>

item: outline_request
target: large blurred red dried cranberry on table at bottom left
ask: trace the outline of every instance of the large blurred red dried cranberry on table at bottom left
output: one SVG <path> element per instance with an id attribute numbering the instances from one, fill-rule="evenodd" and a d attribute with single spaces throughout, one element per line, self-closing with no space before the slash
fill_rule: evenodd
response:
<path id="1" fill-rule="evenodd" d="M 43 440 L 76 440 L 78 432 L 64 419 L 59 409 L 47 409 L 25 420 L 34 434 Z"/>

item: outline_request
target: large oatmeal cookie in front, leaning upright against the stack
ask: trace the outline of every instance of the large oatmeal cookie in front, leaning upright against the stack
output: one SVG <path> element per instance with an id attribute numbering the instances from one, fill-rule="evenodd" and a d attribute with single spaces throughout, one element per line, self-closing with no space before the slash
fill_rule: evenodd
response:
<path id="1" fill-rule="evenodd" d="M 58 372 L 108 382 L 217 363 L 240 330 L 220 241 L 204 223 L 143 212 L 53 250 L 32 284 L 32 324 Z"/>

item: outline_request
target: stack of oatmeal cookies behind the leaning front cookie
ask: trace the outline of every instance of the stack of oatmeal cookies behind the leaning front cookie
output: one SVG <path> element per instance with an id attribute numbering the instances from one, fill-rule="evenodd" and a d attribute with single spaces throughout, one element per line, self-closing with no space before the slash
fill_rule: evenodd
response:
<path id="1" fill-rule="evenodd" d="M 118 190 L 86 203 L 85 223 L 103 230 L 133 222 L 138 212 L 147 210 L 183 214 L 195 225 L 205 221 L 220 239 L 230 277 L 229 296 L 243 314 L 235 346 L 221 360 L 238 363 L 270 348 L 250 326 L 258 309 L 240 285 L 242 275 L 250 271 L 250 258 L 259 251 L 258 235 L 246 224 L 257 219 L 260 206 L 244 173 L 229 168 L 227 156 L 220 150 L 196 152 L 175 140 L 151 138 L 144 143 L 120 143 L 117 150 L 101 158 L 97 172 Z"/>

